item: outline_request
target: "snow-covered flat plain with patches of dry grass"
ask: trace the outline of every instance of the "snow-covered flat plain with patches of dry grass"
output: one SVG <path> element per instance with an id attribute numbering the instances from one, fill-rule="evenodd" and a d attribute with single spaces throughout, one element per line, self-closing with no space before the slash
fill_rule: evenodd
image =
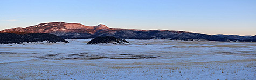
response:
<path id="1" fill-rule="evenodd" d="M 256 79 L 256 42 L 0 44 L 0 79 Z"/>

